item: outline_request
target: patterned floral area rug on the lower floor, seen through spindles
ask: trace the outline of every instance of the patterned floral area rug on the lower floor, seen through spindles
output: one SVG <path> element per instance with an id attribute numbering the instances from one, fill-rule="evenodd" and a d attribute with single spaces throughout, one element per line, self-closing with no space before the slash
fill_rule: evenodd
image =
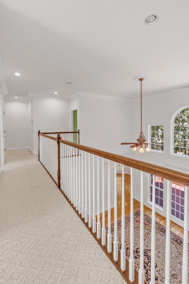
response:
<path id="1" fill-rule="evenodd" d="M 130 214 L 125 216 L 126 259 L 130 258 Z M 170 283 L 182 283 L 183 239 L 173 233 L 170 235 Z M 107 233 L 107 227 L 106 227 Z M 112 242 L 114 241 L 114 223 L 111 224 Z M 166 227 L 156 221 L 156 268 L 155 283 L 165 282 L 165 238 Z M 121 219 L 118 220 L 118 248 L 121 249 Z M 188 254 L 189 255 L 189 254 Z M 135 269 L 140 268 L 140 209 L 134 211 L 134 259 Z M 189 261 L 188 261 L 189 265 Z M 151 280 L 151 217 L 144 213 L 144 271 L 145 280 Z M 189 277 L 188 277 L 189 283 Z"/>

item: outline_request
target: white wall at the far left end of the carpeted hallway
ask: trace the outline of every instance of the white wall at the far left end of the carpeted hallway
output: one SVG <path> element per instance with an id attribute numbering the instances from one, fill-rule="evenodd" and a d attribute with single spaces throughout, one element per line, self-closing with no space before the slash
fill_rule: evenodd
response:
<path id="1" fill-rule="evenodd" d="M 6 150 L 29 149 L 29 107 L 27 101 L 5 101 Z"/>

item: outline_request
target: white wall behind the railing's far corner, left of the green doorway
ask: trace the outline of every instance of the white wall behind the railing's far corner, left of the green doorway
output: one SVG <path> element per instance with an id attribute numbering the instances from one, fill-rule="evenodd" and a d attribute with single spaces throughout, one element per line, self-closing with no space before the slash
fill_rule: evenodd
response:
<path id="1" fill-rule="evenodd" d="M 70 125 L 69 101 L 33 96 L 33 154 L 38 154 L 38 130 L 41 132 L 68 131 Z M 30 143 L 31 144 L 31 143 Z"/>

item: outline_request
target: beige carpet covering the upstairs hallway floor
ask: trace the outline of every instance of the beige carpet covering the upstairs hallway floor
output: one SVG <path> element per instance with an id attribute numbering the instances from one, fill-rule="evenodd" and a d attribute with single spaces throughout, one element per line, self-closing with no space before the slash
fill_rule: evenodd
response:
<path id="1" fill-rule="evenodd" d="M 0 196 L 0 284 L 126 283 L 38 156 L 7 151 Z"/>

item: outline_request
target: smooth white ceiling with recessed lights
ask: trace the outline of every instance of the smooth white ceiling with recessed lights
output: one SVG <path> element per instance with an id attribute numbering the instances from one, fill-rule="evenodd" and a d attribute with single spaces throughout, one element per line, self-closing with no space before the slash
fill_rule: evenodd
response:
<path id="1" fill-rule="evenodd" d="M 186 0 L 0 0 L 6 98 L 79 91 L 134 99 L 133 78 L 142 75 L 143 96 L 184 88 L 188 12 Z M 149 14 L 159 16 L 154 25 L 144 24 Z"/>

